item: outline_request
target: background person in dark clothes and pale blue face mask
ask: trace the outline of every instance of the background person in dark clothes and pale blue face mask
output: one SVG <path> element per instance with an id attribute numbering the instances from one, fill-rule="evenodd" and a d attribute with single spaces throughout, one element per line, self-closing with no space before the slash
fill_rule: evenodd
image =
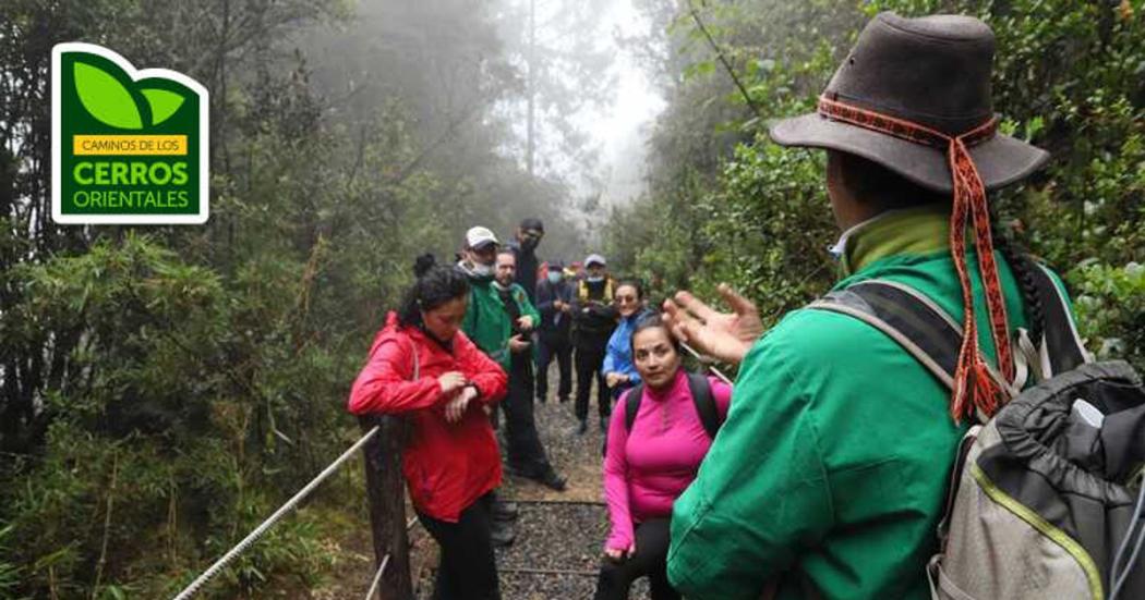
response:
<path id="1" fill-rule="evenodd" d="M 537 283 L 537 310 L 540 327 L 537 329 L 537 401 L 548 395 L 548 365 L 556 358 L 561 374 L 556 397 L 567 402 L 572 392 L 572 286 L 564 280 L 564 265 L 548 263 L 547 278 Z"/>

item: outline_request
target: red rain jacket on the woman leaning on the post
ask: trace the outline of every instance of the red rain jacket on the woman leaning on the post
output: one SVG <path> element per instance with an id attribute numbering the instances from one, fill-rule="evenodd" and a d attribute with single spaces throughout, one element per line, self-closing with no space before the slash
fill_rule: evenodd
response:
<path id="1" fill-rule="evenodd" d="M 412 434 L 402 453 L 410 499 L 429 517 L 456 522 L 461 511 L 500 485 L 497 439 L 481 405 L 500 400 L 508 377 L 464 333 L 451 345 L 452 353 L 417 327 L 398 327 L 390 312 L 354 381 L 349 410 L 410 419 Z M 412 381 L 414 351 L 418 381 Z M 443 395 L 437 384 L 451 370 L 461 371 L 481 392 L 457 423 L 445 421 L 444 408 L 453 397 Z"/>

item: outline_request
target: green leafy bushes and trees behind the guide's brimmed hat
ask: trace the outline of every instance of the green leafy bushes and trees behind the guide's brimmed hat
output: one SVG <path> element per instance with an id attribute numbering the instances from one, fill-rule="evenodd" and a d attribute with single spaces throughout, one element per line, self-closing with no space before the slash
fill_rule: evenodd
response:
<path id="1" fill-rule="evenodd" d="M 997 37 L 1003 130 L 1053 154 L 1043 173 L 993 199 L 1004 230 L 1065 275 L 1091 350 L 1145 368 L 1145 3 L 643 7 L 672 33 L 656 59 L 682 77 L 663 80 L 669 107 L 654 133 L 649 191 L 614 215 L 608 239 L 661 294 L 687 287 L 712 297 L 728 281 L 768 319 L 822 294 L 836 277 L 826 249 L 838 235 L 823 157 L 780 149 L 767 122 L 810 112 L 878 11 L 969 14 Z"/>

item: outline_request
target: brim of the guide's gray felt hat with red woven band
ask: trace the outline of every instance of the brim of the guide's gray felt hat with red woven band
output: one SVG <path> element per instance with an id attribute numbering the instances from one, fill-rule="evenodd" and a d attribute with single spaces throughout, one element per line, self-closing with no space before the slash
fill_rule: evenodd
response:
<path id="1" fill-rule="evenodd" d="M 832 121 L 818 113 L 777 121 L 772 125 L 769 134 L 776 144 L 783 146 L 848 152 L 875 161 L 929 190 L 954 191 L 946 153 L 930 146 Z M 1049 152 L 1001 133 L 972 146 L 970 155 L 987 190 L 1021 181 L 1050 159 Z"/>

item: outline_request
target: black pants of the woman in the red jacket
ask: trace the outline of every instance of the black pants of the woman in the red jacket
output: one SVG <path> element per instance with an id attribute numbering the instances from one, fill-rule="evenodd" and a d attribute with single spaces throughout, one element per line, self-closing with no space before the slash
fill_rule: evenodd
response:
<path id="1" fill-rule="evenodd" d="M 418 520 L 441 546 L 434 600 L 500 600 L 497 560 L 489 538 L 491 502 L 487 494 L 467 509 L 456 523 L 418 512 Z"/>

